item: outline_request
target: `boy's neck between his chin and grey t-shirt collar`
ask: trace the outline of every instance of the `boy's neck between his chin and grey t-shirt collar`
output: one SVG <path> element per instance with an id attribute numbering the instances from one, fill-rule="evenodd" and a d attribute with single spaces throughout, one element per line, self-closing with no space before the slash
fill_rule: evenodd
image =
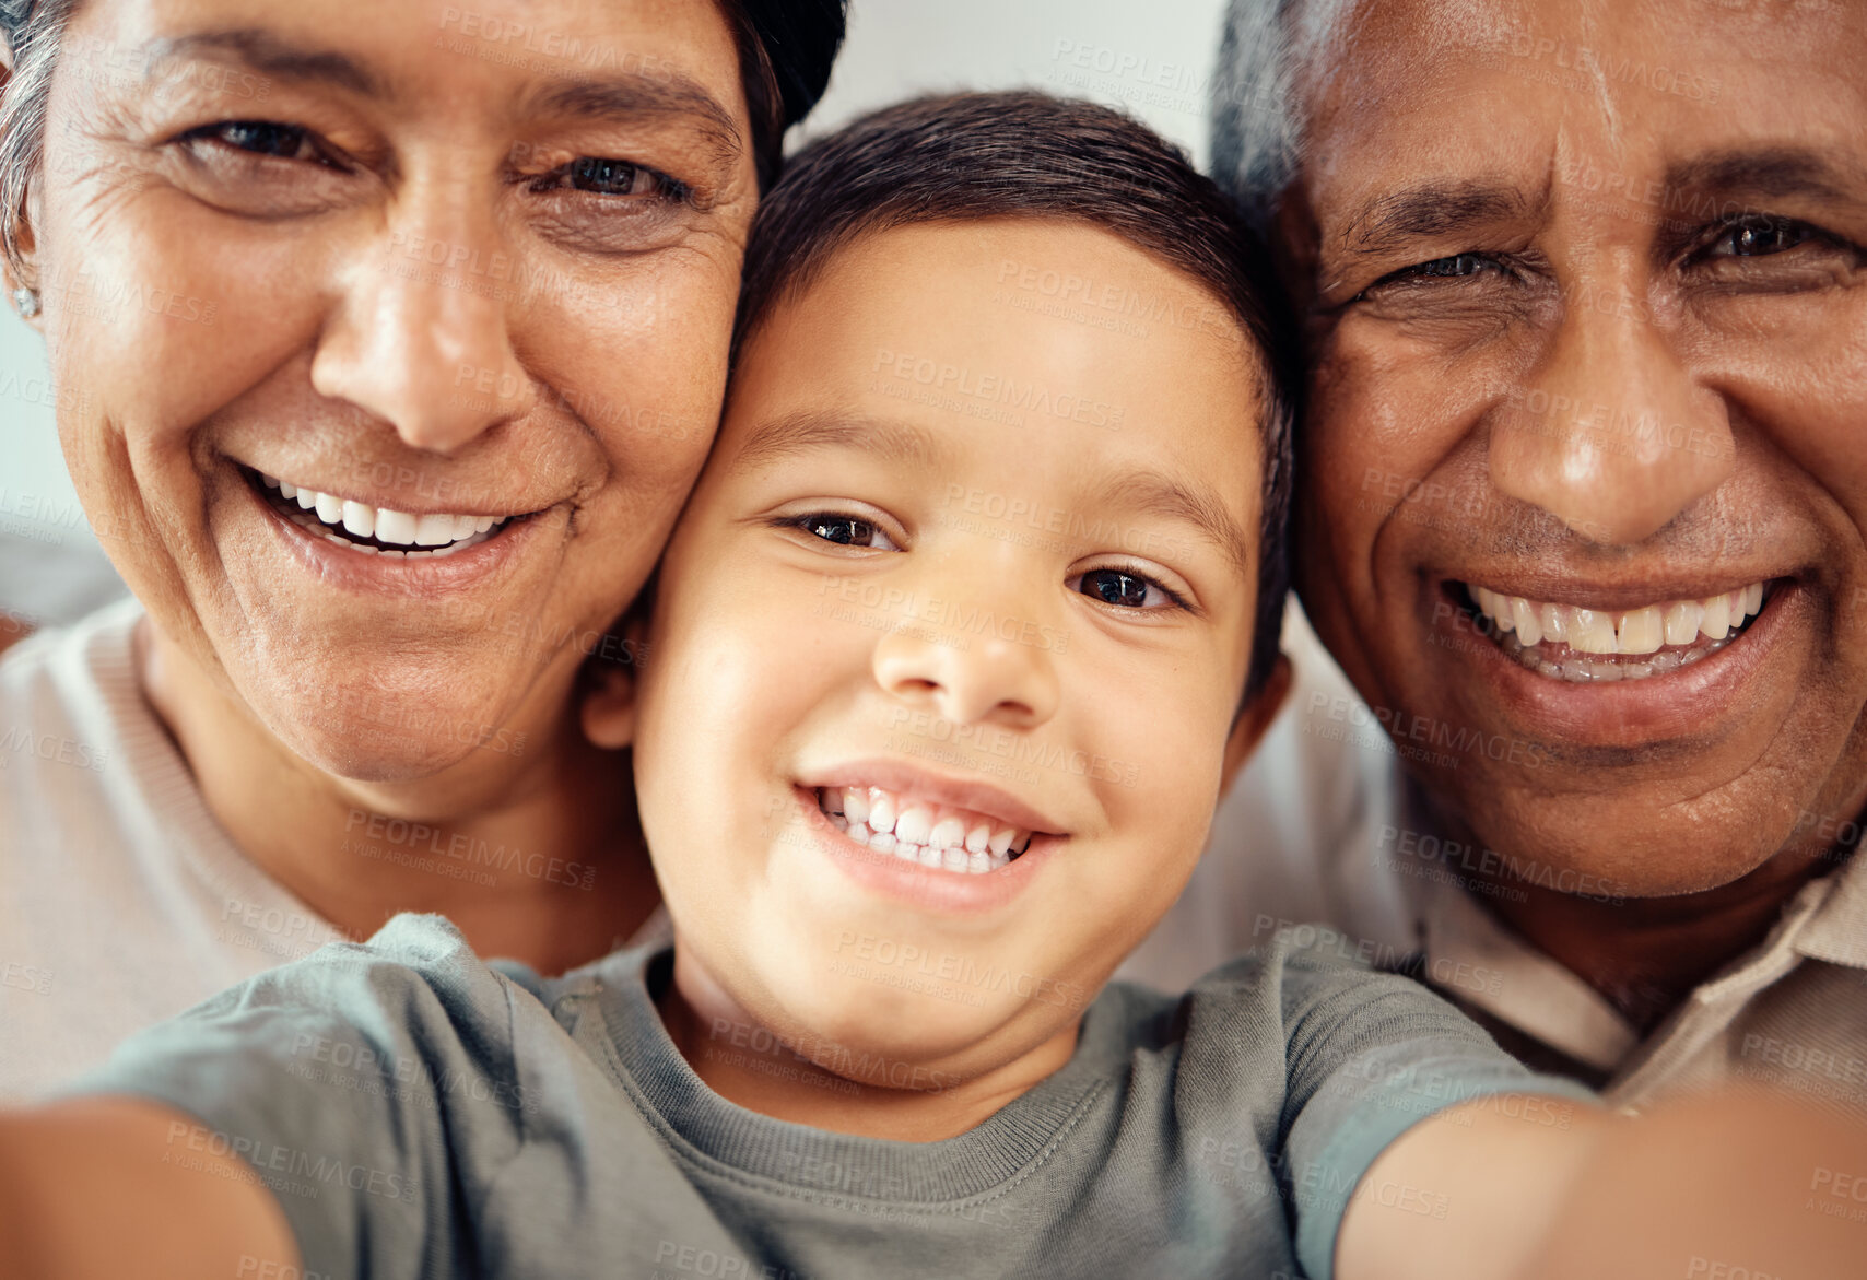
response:
<path id="1" fill-rule="evenodd" d="M 1081 1019 L 1010 1062 L 962 1077 L 939 1064 L 885 1064 L 872 1078 L 818 1064 L 874 1062 L 827 1041 L 786 1043 L 752 1021 L 676 942 L 661 1023 L 687 1065 L 728 1103 L 773 1120 L 892 1142 L 939 1142 L 978 1127 L 1075 1052 Z M 900 1078 L 902 1086 L 881 1084 Z"/>

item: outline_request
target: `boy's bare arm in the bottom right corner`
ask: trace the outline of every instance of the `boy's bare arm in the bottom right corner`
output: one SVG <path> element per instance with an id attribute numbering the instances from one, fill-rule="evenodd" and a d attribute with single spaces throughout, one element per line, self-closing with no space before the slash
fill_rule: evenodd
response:
<path id="1" fill-rule="evenodd" d="M 1761 1093 L 1559 1106 L 1568 1127 L 1507 1095 L 1408 1129 L 1355 1185 L 1337 1280 L 1867 1274 L 1867 1127 Z"/>

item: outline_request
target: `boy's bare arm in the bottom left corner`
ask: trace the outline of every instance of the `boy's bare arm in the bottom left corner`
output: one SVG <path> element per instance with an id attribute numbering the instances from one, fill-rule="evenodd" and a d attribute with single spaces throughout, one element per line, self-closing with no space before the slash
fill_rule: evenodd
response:
<path id="1" fill-rule="evenodd" d="M 297 1274 L 273 1192 L 202 1133 L 129 1097 L 0 1112 L 0 1276 Z"/>

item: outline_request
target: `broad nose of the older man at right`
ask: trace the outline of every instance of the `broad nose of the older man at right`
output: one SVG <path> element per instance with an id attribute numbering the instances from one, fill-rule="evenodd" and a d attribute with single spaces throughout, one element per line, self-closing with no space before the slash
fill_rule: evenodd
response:
<path id="1" fill-rule="evenodd" d="M 1604 295 L 1594 295 L 1596 299 Z M 1733 470 L 1723 399 L 1693 379 L 1650 312 L 1568 304 L 1509 403 L 1494 410 L 1492 483 L 1593 543 L 1665 528 Z"/>

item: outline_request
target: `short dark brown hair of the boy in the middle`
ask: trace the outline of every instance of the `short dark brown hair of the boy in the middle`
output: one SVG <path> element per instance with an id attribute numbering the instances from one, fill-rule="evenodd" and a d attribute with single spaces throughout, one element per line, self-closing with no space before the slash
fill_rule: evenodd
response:
<path id="1" fill-rule="evenodd" d="M 922 97 L 863 116 L 786 162 L 745 254 L 734 356 L 857 237 L 915 222 L 1070 218 L 1215 293 L 1258 355 L 1264 521 L 1245 702 L 1277 661 L 1290 590 L 1292 325 L 1270 259 L 1230 202 L 1146 125 L 1046 93 Z"/>

